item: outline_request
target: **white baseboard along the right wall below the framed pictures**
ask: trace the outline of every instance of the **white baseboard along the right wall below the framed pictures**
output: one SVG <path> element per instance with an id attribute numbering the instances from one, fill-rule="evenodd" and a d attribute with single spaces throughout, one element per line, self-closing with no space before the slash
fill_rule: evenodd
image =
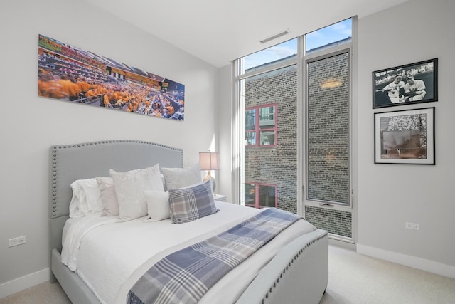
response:
<path id="1" fill-rule="evenodd" d="M 455 278 L 455 267 L 443 263 L 426 260 L 424 258 L 417 258 L 417 256 L 407 256 L 406 254 L 386 251 L 375 247 L 357 244 L 357 253 L 365 256 L 373 256 L 373 258 L 380 258 L 384 261 L 397 263 L 412 268 L 417 268 L 422 271 L 436 273 L 440 276 Z"/>

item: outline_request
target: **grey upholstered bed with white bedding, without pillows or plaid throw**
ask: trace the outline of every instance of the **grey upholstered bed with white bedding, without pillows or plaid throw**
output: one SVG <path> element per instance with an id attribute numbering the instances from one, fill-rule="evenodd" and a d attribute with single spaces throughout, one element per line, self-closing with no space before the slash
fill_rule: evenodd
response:
<path id="1" fill-rule="evenodd" d="M 147 269 L 159 265 L 164 257 L 180 253 L 194 243 L 218 237 L 220 232 L 264 213 L 214 201 L 212 206 L 218 212 L 183 225 L 173 225 L 171 219 L 147 222 L 147 216 L 121 223 L 118 216 L 70 217 L 73 199 L 70 184 L 76 180 L 105 177 L 109 170 L 129 172 L 156 164 L 161 171 L 163 168 L 183 169 L 183 151 L 137 140 L 50 147 L 50 281 L 58 281 L 73 303 L 126 303 L 138 278 L 143 277 Z M 328 282 L 327 231 L 316 229 L 303 219 L 289 225 L 215 282 L 198 303 L 319 303 Z M 207 229 L 208 226 L 213 229 Z M 83 233 L 76 234 L 79 239 L 74 241 L 70 239 L 70 235 L 73 237 L 70 232 L 76 231 L 76 227 L 84 228 L 80 230 Z M 169 227 L 174 230 L 166 230 Z M 155 231 L 152 239 L 141 239 L 150 238 L 150 231 Z M 77 266 L 73 267 L 76 271 L 70 270 L 70 263 L 68 266 L 63 263 L 74 253 L 68 243 L 77 243 Z M 160 246 L 166 243 L 166 247 L 157 247 L 156 243 Z M 150 256 L 146 257 L 144 252 Z M 112 253 L 118 254 L 111 256 Z M 119 256 L 129 262 L 123 266 Z M 134 261 L 132 265 L 131 260 Z"/>

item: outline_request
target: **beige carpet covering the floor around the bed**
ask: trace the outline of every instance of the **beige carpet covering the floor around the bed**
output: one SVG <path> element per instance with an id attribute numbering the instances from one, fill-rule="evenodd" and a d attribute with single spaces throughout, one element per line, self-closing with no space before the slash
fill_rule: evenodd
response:
<path id="1" fill-rule="evenodd" d="M 453 278 L 361 256 L 337 246 L 329 247 L 328 268 L 328 287 L 320 304 L 455 304 Z M 70 301 L 58 283 L 48 282 L 0 299 L 0 304 L 54 303 Z"/>

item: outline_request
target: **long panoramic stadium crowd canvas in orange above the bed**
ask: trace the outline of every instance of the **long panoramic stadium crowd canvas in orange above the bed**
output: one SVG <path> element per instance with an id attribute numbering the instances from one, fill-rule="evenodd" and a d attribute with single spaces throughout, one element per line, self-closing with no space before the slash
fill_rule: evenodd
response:
<path id="1" fill-rule="evenodd" d="M 185 85 L 43 35 L 38 38 L 38 95 L 184 119 Z"/>

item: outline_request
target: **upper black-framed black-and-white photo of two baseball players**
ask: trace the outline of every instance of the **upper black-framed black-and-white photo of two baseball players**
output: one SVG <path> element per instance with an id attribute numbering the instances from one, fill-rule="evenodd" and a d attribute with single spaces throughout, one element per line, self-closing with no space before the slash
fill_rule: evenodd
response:
<path id="1" fill-rule="evenodd" d="M 438 100 L 438 58 L 373 72 L 373 109 Z"/>

